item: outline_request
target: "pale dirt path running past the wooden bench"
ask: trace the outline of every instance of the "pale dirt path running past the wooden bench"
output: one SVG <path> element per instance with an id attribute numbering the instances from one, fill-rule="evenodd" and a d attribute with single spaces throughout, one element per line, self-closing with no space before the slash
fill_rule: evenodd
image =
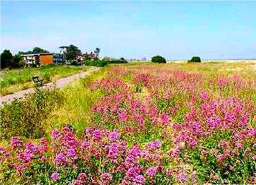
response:
<path id="1" fill-rule="evenodd" d="M 92 67 L 91 69 L 88 69 L 88 71 L 82 72 L 82 73 L 77 73 L 75 75 L 72 76 L 68 76 L 68 77 L 64 77 L 63 79 L 59 79 L 56 80 L 56 83 L 48 83 L 45 84 L 43 86 L 44 89 L 47 88 L 62 88 L 72 82 L 74 82 L 77 79 L 80 79 L 84 76 L 90 75 L 90 73 L 98 71 L 100 68 L 99 67 Z M 17 93 L 14 94 L 8 94 L 6 96 L 1 97 L 0 100 L 0 104 L 2 104 L 2 102 L 10 102 L 12 100 L 14 100 L 15 98 L 22 98 L 23 96 L 25 96 L 25 94 L 29 94 L 29 93 L 33 93 L 34 92 L 34 88 L 30 88 L 30 89 L 26 89 L 23 91 L 19 91 Z"/>

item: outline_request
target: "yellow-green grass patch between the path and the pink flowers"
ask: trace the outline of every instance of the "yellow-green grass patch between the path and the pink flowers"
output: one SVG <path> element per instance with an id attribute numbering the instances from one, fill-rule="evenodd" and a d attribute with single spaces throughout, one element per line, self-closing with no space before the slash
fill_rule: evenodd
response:
<path id="1" fill-rule="evenodd" d="M 103 96 L 100 92 L 90 91 L 88 87 L 96 79 L 104 77 L 107 70 L 108 67 L 103 67 L 100 71 L 61 89 L 64 96 L 63 106 L 55 109 L 44 121 L 46 133 L 50 134 L 52 129 L 61 129 L 65 125 L 74 128 L 78 136 L 83 134 L 84 129 L 91 125 L 92 104 Z"/>

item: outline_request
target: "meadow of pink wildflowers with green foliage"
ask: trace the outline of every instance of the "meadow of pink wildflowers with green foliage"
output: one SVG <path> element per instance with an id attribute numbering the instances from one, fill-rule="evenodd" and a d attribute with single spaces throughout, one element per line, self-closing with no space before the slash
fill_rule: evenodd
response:
<path id="1" fill-rule="evenodd" d="M 100 95 L 82 133 L 68 123 L 40 139 L 11 137 L 0 146 L 1 183 L 256 183 L 254 76 L 113 65 L 84 91 Z"/>

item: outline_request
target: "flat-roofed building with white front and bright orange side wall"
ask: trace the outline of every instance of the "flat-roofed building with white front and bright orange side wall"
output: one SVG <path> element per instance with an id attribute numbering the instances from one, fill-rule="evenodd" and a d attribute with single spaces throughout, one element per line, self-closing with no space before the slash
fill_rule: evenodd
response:
<path id="1" fill-rule="evenodd" d="M 21 56 L 23 57 L 23 60 L 26 64 L 46 65 L 54 63 L 53 55 L 48 53 Z"/>

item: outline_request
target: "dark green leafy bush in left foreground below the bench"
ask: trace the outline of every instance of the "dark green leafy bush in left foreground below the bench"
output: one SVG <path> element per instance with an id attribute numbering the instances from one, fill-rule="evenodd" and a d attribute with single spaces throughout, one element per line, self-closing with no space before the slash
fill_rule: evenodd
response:
<path id="1" fill-rule="evenodd" d="M 23 100 L 3 104 L 0 109 L 1 139 L 13 136 L 43 137 L 43 121 L 62 100 L 63 96 L 58 90 L 36 89 L 35 93 L 27 94 Z"/>

